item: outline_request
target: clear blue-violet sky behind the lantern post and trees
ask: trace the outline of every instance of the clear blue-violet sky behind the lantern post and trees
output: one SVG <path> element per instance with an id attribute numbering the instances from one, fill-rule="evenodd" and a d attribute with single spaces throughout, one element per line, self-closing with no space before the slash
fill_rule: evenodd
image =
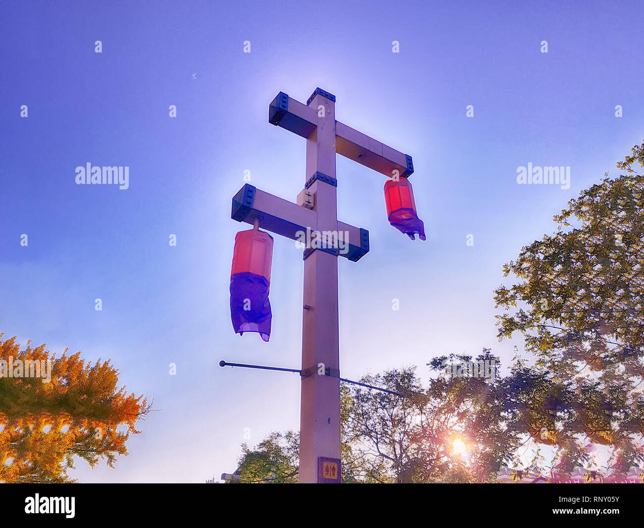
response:
<path id="1" fill-rule="evenodd" d="M 291 200 L 305 181 L 305 141 L 267 122 L 279 91 L 334 93 L 339 121 L 413 156 L 426 242 L 386 221 L 382 175 L 337 160 L 339 217 L 371 241 L 339 263 L 343 376 L 415 364 L 428 378 L 431 357 L 484 346 L 511 357 L 493 318 L 502 264 L 644 137 L 641 15 L 631 2 L 2 3 L 0 331 L 111 358 L 160 409 L 116 470 L 81 461 L 73 475 L 203 482 L 236 468 L 242 442 L 298 429 L 298 376 L 218 367 L 299 368 L 293 241 L 274 244 L 270 341 L 235 335 L 228 306 L 243 171 Z M 128 190 L 75 184 L 88 162 L 129 166 Z M 518 185 L 529 162 L 570 166 L 570 188 Z"/>

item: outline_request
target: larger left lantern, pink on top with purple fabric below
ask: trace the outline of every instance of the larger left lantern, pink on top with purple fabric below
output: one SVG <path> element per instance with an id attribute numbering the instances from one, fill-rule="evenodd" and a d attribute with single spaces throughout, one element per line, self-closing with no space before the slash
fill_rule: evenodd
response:
<path id="1" fill-rule="evenodd" d="M 231 271 L 231 320 L 235 333 L 258 332 L 270 337 L 270 265 L 273 237 L 251 229 L 235 235 Z"/>

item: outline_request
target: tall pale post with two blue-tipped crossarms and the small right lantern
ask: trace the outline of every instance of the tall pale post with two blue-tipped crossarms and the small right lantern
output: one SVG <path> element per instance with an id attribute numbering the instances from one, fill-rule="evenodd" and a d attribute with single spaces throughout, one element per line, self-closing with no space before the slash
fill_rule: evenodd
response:
<path id="1" fill-rule="evenodd" d="M 369 251 L 369 232 L 337 219 L 336 153 L 394 182 L 413 173 L 411 156 L 336 121 L 335 104 L 336 97 L 320 88 L 307 104 L 279 92 L 270 103 L 269 122 L 307 140 L 305 188 L 296 203 L 249 184 L 232 199 L 232 219 L 305 242 L 299 437 L 302 483 L 341 480 L 337 257 L 355 262 Z M 402 191 L 411 197 L 411 205 L 402 199 L 396 207 L 412 208 L 413 213 L 397 220 L 403 222 L 403 228 L 390 221 L 412 240 L 414 234 L 424 240 L 411 187 L 404 183 Z M 388 210 L 390 200 L 388 197 Z"/>

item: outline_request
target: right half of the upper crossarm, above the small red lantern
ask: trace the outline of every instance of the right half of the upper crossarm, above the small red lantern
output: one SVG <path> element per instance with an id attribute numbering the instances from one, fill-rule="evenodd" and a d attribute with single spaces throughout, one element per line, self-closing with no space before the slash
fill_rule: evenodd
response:
<path id="1" fill-rule="evenodd" d="M 336 152 L 388 177 L 413 173 L 412 157 L 336 121 Z"/>

